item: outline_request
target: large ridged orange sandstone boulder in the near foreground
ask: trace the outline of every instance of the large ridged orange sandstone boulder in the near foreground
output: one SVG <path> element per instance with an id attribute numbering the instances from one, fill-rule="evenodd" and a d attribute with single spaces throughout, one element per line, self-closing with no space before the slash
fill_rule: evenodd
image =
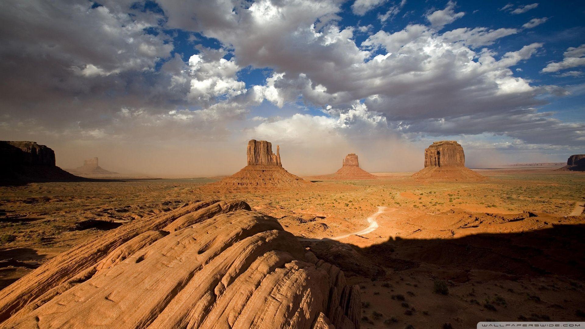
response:
<path id="1" fill-rule="evenodd" d="M 130 222 L 0 291 L 10 328 L 350 329 L 360 313 L 358 286 L 243 201 Z"/>

